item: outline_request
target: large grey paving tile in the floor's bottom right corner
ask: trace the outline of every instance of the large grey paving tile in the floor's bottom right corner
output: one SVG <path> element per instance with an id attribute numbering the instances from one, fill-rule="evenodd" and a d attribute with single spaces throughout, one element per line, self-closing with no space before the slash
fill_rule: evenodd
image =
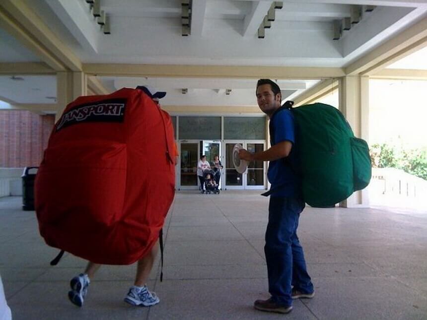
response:
<path id="1" fill-rule="evenodd" d="M 314 278 L 319 319 L 427 319 L 427 298 L 391 277 Z"/>

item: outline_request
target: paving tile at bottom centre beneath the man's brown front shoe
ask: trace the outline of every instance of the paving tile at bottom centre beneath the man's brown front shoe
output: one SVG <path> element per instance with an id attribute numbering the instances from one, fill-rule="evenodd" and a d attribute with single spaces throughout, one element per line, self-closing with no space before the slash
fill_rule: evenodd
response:
<path id="1" fill-rule="evenodd" d="M 151 308 L 148 319 L 316 319 L 299 301 L 286 316 L 255 310 L 255 300 L 269 297 L 266 286 L 266 279 L 157 283 L 156 291 L 162 305 Z"/>

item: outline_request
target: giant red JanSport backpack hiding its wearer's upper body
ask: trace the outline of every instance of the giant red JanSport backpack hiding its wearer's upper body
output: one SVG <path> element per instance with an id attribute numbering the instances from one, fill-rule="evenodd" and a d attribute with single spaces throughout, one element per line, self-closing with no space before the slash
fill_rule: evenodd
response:
<path id="1" fill-rule="evenodd" d="M 140 89 L 71 102 L 35 180 L 46 243 L 95 263 L 147 254 L 174 197 L 173 150 L 170 116 Z"/>

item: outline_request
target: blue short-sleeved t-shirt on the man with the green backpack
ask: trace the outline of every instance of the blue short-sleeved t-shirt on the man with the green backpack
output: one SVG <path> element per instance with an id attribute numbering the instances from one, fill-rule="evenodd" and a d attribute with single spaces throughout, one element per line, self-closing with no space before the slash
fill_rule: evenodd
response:
<path id="1" fill-rule="evenodd" d="M 271 196 L 299 197 L 301 187 L 297 176 L 299 163 L 296 157 L 298 153 L 293 114 L 288 109 L 279 110 L 270 122 L 273 129 L 273 135 L 270 137 L 272 146 L 283 141 L 292 142 L 292 148 L 286 158 L 270 161 L 267 176 L 271 183 Z"/>

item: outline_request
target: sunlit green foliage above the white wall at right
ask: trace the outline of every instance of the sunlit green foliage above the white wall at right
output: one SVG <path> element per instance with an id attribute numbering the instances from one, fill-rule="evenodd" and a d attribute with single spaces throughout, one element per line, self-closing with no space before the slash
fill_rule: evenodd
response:
<path id="1" fill-rule="evenodd" d="M 372 167 L 397 168 L 427 180 L 427 149 L 404 150 L 387 143 L 370 147 Z"/>

